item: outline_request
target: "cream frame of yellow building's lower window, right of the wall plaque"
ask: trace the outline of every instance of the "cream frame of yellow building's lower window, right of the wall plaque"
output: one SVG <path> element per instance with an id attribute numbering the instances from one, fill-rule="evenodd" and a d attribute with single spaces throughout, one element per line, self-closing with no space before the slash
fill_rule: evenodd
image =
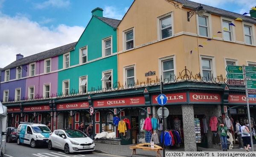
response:
<path id="1" fill-rule="evenodd" d="M 162 58 L 159 58 L 158 59 L 158 68 L 159 68 L 159 78 L 163 78 L 161 76 L 164 76 L 163 73 L 163 62 L 166 62 L 166 61 L 169 61 L 169 60 L 173 60 L 173 73 L 174 75 L 176 76 L 176 55 L 172 55 L 172 56 L 165 56 L 165 57 L 162 57 Z M 164 80 L 164 78 L 163 78 Z M 174 81 L 171 79 L 171 81 Z"/>

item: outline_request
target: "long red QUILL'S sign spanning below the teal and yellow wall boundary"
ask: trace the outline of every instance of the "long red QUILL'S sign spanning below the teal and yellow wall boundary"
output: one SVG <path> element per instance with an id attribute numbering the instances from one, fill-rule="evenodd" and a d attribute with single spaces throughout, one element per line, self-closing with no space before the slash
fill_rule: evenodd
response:
<path id="1" fill-rule="evenodd" d="M 126 106 L 126 105 L 143 105 L 145 104 L 145 98 L 134 97 L 134 98 L 119 98 L 119 99 L 108 99 L 99 100 L 93 102 L 93 107 L 114 107 L 114 106 Z"/>

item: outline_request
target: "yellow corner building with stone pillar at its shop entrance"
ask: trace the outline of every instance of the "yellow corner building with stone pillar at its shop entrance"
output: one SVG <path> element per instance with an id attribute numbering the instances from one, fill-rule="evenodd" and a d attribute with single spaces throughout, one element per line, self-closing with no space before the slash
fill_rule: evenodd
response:
<path id="1" fill-rule="evenodd" d="M 134 83 L 148 84 L 147 80 L 152 83 L 157 81 L 157 78 L 162 78 L 164 82 L 182 80 L 184 69 L 189 70 L 189 77 L 193 76 L 192 82 L 201 80 L 200 82 L 219 83 L 218 81 L 226 78 L 227 65 L 256 67 L 256 20 L 203 4 L 201 6 L 204 15 L 201 17 L 195 14 L 199 6 L 199 3 L 187 0 L 134 0 L 118 26 L 120 84 L 133 87 Z M 236 20 L 237 18 L 241 18 L 242 21 Z M 204 132 L 201 135 L 201 141 L 198 143 L 204 143 L 206 147 L 218 147 L 212 143 L 215 129 L 209 127 L 209 123 L 214 116 L 230 116 L 231 113 L 223 109 L 229 109 L 231 101 L 225 100 L 238 91 L 234 89 L 235 86 L 225 86 L 226 84 L 222 84 L 222 90 L 211 90 L 212 87 L 200 87 L 201 85 L 185 85 L 186 88 L 178 87 L 177 84 L 175 87 L 164 89 L 166 94 L 187 94 L 188 103 L 178 102 L 166 106 L 173 122 L 175 117 L 181 119 L 185 151 L 196 149 L 197 135 L 191 127 L 195 126 L 194 118 L 202 116 L 207 118 L 209 130 L 208 134 Z M 196 92 L 193 93 L 193 90 Z M 239 92 L 241 95 L 245 94 L 244 90 Z M 206 95 L 203 95 L 204 93 Z M 193 95 L 200 94 L 213 96 L 213 99 L 221 101 L 214 103 L 211 98 L 208 98 L 209 102 L 192 101 Z M 153 104 L 153 100 L 151 103 Z M 157 105 L 153 107 L 153 114 L 158 108 Z M 236 119 L 244 116 L 244 113 L 239 115 L 238 108 L 234 114 Z M 167 126 L 168 122 L 167 120 Z"/>

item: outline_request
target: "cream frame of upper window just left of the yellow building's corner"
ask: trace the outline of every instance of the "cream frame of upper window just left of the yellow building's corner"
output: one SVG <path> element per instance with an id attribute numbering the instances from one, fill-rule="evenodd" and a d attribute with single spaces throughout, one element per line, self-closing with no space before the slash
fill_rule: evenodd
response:
<path id="1" fill-rule="evenodd" d="M 172 27 L 172 35 L 166 38 L 162 39 L 162 26 L 161 26 L 161 20 L 166 19 L 168 17 L 171 17 L 172 20 L 172 24 L 170 27 Z M 160 17 L 157 17 L 157 39 L 158 41 L 160 40 L 165 40 L 165 39 L 169 39 L 172 38 L 174 36 L 174 18 L 173 18 L 173 12 L 169 12 L 167 14 L 161 15 Z"/>

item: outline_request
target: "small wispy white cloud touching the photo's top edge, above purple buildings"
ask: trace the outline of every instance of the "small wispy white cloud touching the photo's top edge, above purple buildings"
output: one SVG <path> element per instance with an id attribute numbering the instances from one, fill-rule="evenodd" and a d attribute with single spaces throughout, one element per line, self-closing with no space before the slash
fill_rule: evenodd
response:
<path id="1" fill-rule="evenodd" d="M 44 9 L 47 7 L 67 8 L 69 5 L 69 0 L 48 0 L 43 3 L 34 3 L 36 9 Z"/>

